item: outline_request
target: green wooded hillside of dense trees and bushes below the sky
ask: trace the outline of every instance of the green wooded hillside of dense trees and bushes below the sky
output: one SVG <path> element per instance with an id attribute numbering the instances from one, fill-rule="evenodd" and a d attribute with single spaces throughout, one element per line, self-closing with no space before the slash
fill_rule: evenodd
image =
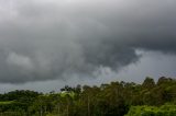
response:
<path id="1" fill-rule="evenodd" d="M 176 116 L 176 80 L 147 77 L 142 84 L 64 86 L 59 93 L 13 91 L 0 94 L 2 116 Z"/>

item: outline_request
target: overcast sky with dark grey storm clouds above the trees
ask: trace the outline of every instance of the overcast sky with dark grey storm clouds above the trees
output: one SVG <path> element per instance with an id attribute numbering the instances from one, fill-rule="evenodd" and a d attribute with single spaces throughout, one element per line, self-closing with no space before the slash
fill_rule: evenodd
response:
<path id="1" fill-rule="evenodd" d="M 175 0 L 0 0 L 0 92 L 176 77 Z"/>

